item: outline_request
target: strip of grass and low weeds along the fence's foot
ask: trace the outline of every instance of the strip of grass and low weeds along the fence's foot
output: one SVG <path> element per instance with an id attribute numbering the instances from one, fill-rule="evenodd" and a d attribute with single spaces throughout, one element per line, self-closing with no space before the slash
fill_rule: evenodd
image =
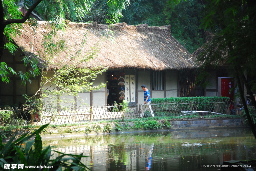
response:
<path id="1" fill-rule="evenodd" d="M 88 126 L 87 131 L 107 131 L 110 130 L 110 124 L 113 123 L 116 125 L 116 130 L 121 129 L 158 129 L 161 127 L 167 127 L 170 128 L 171 125 L 169 121 L 171 120 L 177 120 L 177 119 L 208 119 L 208 118 L 236 118 L 241 117 L 238 115 L 184 115 L 184 116 L 155 116 L 155 117 L 146 117 L 146 118 L 136 118 L 136 119 L 125 119 L 123 122 L 134 122 L 135 126 L 130 127 L 129 124 L 125 124 L 124 127 L 121 127 L 118 123 L 122 122 L 121 120 L 114 120 L 114 121 L 99 121 L 99 122 L 86 122 L 86 123 L 74 123 L 74 124 L 61 124 L 61 125 L 48 125 L 46 129 L 48 128 L 57 128 L 61 129 L 63 127 L 71 127 L 71 126 Z M 17 130 L 20 129 L 26 129 L 26 130 L 34 130 L 38 129 L 40 125 L 25 125 L 25 126 L 17 126 L 17 125 L 6 125 L 6 126 L 0 126 L 0 136 L 2 138 L 8 138 L 10 136 L 13 136 Z M 68 129 L 68 133 L 72 133 L 72 129 Z M 66 133 L 66 132 L 65 132 Z"/>

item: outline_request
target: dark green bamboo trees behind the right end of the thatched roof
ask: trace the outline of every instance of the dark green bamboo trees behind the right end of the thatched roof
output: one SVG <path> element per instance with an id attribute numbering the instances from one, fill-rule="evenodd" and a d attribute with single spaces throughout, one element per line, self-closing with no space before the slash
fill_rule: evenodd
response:
<path id="1" fill-rule="evenodd" d="M 202 46 L 205 42 L 204 29 L 199 29 L 204 10 L 201 0 L 146 1 L 134 0 L 123 10 L 120 20 L 130 25 L 147 23 L 152 26 L 171 25 L 171 34 L 190 53 Z"/>

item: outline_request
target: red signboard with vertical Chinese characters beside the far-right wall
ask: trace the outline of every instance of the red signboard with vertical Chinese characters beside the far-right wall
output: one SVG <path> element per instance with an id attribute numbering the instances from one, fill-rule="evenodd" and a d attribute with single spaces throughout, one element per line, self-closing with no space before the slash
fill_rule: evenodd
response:
<path id="1" fill-rule="evenodd" d="M 234 81 L 233 78 L 221 78 L 221 96 L 229 97 L 234 100 Z"/>

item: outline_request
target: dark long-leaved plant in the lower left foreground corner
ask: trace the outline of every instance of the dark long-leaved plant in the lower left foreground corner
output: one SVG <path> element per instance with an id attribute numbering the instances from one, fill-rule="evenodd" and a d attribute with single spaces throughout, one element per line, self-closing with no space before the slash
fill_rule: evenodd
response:
<path id="1" fill-rule="evenodd" d="M 39 135 L 48 125 L 43 125 L 37 129 L 34 133 L 27 136 L 24 134 L 17 140 L 14 140 L 16 135 L 13 136 L 5 145 L 0 145 L 0 169 L 1 170 L 12 170 L 4 169 L 4 164 L 24 164 L 22 170 L 38 170 L 38 168 L 31 169 L 25 168 L 25 166 L 52 166 L 52 168 L 44 168 L 43 170 L 90 170 L 87 166 L 81 163 L 83 153 L 80 155 L 64 154 L 55 151 L 59 154 L 56 159 L 50 159 L 51 147 L 48 146 L 42 149 L 42 141 Z M 35 136 L 35 140 L 28 141 L 31 137 Z M 2 137 L 0 137 L 2 142 Z M 22 144 L 26 143 L 25 148 L 21 147 Z M 34 146 L 34 147 L 33 147 Z"/>

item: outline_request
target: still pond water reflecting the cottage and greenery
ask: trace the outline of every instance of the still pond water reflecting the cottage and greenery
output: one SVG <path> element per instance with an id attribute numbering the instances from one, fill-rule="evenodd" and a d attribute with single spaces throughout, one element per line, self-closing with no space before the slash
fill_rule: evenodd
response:
<path id="1" fill-rule="evenodd" d="M 104 170 L 219 170 L 201 164 L 256 159 L 247 128 L 154 131 L 42 139 L 52 150 L 88 156 L 82 162 Z M 57 154 L 54 154 L 57 156 Z"/>

